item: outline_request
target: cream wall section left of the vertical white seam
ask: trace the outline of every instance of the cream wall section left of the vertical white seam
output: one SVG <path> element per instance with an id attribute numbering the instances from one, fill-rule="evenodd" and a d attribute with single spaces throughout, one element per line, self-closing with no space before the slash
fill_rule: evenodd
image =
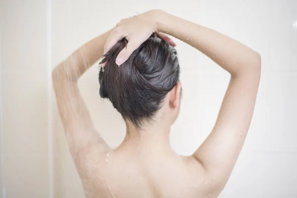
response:
<path id="1" fill-rule="evenodd" d="M 1 197 L 49 195 L 46 11 L 46 1 L 0 0 Z"/>

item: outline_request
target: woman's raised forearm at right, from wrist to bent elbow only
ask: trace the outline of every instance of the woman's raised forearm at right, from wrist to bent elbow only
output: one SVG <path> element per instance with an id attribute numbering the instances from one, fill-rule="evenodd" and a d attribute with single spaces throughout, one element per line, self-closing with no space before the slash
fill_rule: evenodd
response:
<path id="1" fill-rule="evenodd" d="M 198 49 L 231 75 L 258 69 L 260 56 L 242 43 L 162 10 L 154 10 L 156 31 L 169 34 Z"/>

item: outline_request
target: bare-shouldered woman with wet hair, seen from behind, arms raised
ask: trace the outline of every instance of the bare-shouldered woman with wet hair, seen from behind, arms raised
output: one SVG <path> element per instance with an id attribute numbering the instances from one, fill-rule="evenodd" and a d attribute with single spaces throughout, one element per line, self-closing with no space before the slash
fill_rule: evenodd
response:
<path id="1" fill-rule="evenodd" d="M 217 122 L 191 156 L 179 156 L 169 145 L 181 100 L 179 63 L 175 49 L 153 33 L 172 46 L 162 33 L 182 40 L 231 74 Z M 127 125 L 126 137 L 115 149 L 95 130 L 77 87 L 79 77 L 102 55 L 100 96 L 112 102 Z M 257 52 L 161 10 L 124 19 L 76 50 L 52 76 L 86 197 L 217 197 L 246 139 L 260 70 Z"/>

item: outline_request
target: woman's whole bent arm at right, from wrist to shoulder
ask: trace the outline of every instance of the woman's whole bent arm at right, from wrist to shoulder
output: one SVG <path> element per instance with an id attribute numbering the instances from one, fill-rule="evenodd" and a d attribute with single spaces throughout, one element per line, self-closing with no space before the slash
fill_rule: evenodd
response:
<path id="1" fill-rule="evenodd" d="M 225 186 L 247 136 L 261 72 L 260 55 L 219 32 L 155 11 L 157 31 L 200 50 L 231 74 L 216 123 L 193 157 Z"/>

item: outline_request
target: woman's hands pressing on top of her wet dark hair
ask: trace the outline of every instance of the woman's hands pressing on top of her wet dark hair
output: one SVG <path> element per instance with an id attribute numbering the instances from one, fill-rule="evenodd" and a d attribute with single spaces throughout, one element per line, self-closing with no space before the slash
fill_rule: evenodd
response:
<path id="1" fill-rule="evenodd" d="M 104 45 L 104 54 L 107 53 L 118 41 L 123 38 L 128 40 L 124 48 L 116 58 L 116 64 L 123 64 L 152 33 L 156 32 L 156 15 L 158 10 L 150 10 L 137 16 L 121 20 L 111 31 Z M 156 33 L 161 39 L 175 47 L 175 43 L 165 34 Z M 104 67 L 106 63 L 102 64 Z"/>

